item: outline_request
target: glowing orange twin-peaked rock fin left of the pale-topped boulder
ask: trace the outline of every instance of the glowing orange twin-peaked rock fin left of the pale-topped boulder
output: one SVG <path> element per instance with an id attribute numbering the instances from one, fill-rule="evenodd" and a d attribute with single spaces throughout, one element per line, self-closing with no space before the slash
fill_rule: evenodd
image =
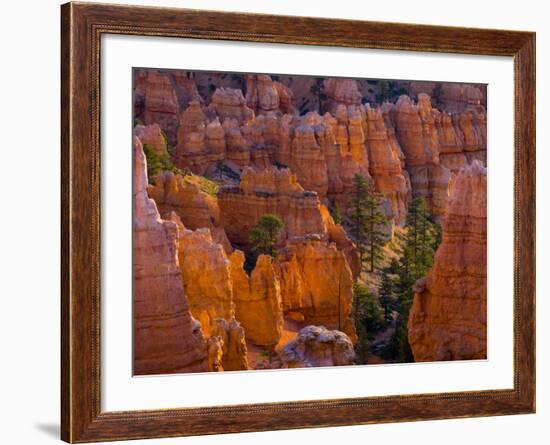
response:
<path id="1" fill-rule="evenodd" d="M 283 329 L 281 288 L 270 256 L 260 255 L 250 277 L 244 271 L 244 254 L 230 256 L 236 319 L 252 343 L 273 348 Z"/>

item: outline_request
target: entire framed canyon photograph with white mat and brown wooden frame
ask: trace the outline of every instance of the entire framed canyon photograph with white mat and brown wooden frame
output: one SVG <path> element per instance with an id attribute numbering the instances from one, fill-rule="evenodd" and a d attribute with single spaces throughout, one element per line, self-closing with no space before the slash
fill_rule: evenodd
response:
<path id="1" fill-rule="evenodd" d="M 535 34 L 67 3 L 61 435 L 535 411 Z"/>

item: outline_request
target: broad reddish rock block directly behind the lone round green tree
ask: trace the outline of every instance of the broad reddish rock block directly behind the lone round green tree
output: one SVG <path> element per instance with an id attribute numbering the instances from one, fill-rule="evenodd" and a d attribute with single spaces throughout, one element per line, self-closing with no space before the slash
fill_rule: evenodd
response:
<path id="1" fill-rule="evenodd" d="M 221 223 L 230 241 L 247 247 L 248 234 L 258 219 L 266 214 L 278 215 L 285 226 L 285 238 L 317 233 L 327 238 L 327 229 L 315 192 L 304 191 L 296 175 L 288 169 L 270 167 L 260 172 L 247 167 L 239 186 L 222 187 L 218 193 Z"/>

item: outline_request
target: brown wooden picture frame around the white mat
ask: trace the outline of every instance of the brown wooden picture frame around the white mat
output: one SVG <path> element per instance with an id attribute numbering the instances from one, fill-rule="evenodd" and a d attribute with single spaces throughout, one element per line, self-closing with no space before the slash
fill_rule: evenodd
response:
<path id="1" fill-rule="evenodd" d="M 209 408 L 102 412 L 100 38 L 103 34 L 512 56 L 514 387 Z M 61 437 L 71 443 L 495 416 L 535 411 L 535 34 L 148 8 L 61 7 Z"/>

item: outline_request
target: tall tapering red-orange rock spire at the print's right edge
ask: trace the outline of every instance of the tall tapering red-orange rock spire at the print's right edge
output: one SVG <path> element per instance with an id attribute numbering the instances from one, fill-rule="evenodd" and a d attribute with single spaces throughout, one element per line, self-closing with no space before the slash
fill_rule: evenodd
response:
<path id="1" fill-rule="evenodd" d="M 408 323 L 415 361 L 487 357 L 487 170 L 479 161 L 453 181 L 443 241 L 415 292 Z"/>

